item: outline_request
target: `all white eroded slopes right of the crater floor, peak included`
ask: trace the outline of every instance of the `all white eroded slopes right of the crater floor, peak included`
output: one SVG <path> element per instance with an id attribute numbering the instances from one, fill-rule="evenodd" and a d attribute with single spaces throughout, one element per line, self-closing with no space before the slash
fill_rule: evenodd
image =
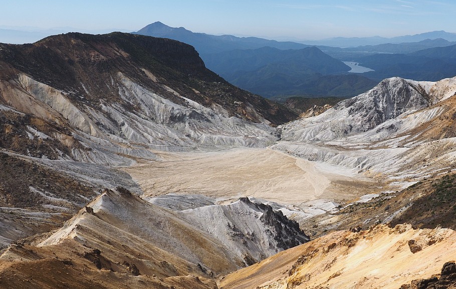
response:
<path id="1" fill-rule="evenodd" d="M 454 167 L 453 140 L 425 135 L 426 125 L 451 108 L 445 100 L 455 93 L 456 78 L 435 83 L 385 79 L 320 115 L 280 126 L 284 141 L 272 148 L 329 171 L 348 169 L 406 185 Z"/>

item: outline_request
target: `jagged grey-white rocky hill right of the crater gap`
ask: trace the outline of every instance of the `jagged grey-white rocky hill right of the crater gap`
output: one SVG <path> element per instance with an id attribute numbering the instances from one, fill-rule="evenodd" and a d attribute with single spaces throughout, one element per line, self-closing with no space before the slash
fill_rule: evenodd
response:
<path id="1" fill-rule="evenodd" d="M 377 125 L 430 104 L 425 89 L 414 82 L 394 77 L 339 102 L 320 115 L 282 126 L 282 139 L 293 141 L 330 141 L 369 131 Z"/>

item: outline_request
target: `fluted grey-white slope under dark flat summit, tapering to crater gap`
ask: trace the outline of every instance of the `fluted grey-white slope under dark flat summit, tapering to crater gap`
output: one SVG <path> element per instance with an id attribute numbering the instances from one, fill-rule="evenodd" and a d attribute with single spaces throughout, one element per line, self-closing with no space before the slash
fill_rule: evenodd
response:
<path id="1" fill-rule="evenodd" d="M 186 106 L 175 104 L 147 90 L 119 73 L 121 97 L 139 105 L 140 113 L 125 113 L 119 106 L 103 107 L 124 137 L 130 141 L 167 147 L 264 147 L 274 141 L 274 130 L 266 124 L 254 124 L 237 117 L 227 117 L 184 99 Z M 122 125 L 123 124 L 123 125 Z"/>

